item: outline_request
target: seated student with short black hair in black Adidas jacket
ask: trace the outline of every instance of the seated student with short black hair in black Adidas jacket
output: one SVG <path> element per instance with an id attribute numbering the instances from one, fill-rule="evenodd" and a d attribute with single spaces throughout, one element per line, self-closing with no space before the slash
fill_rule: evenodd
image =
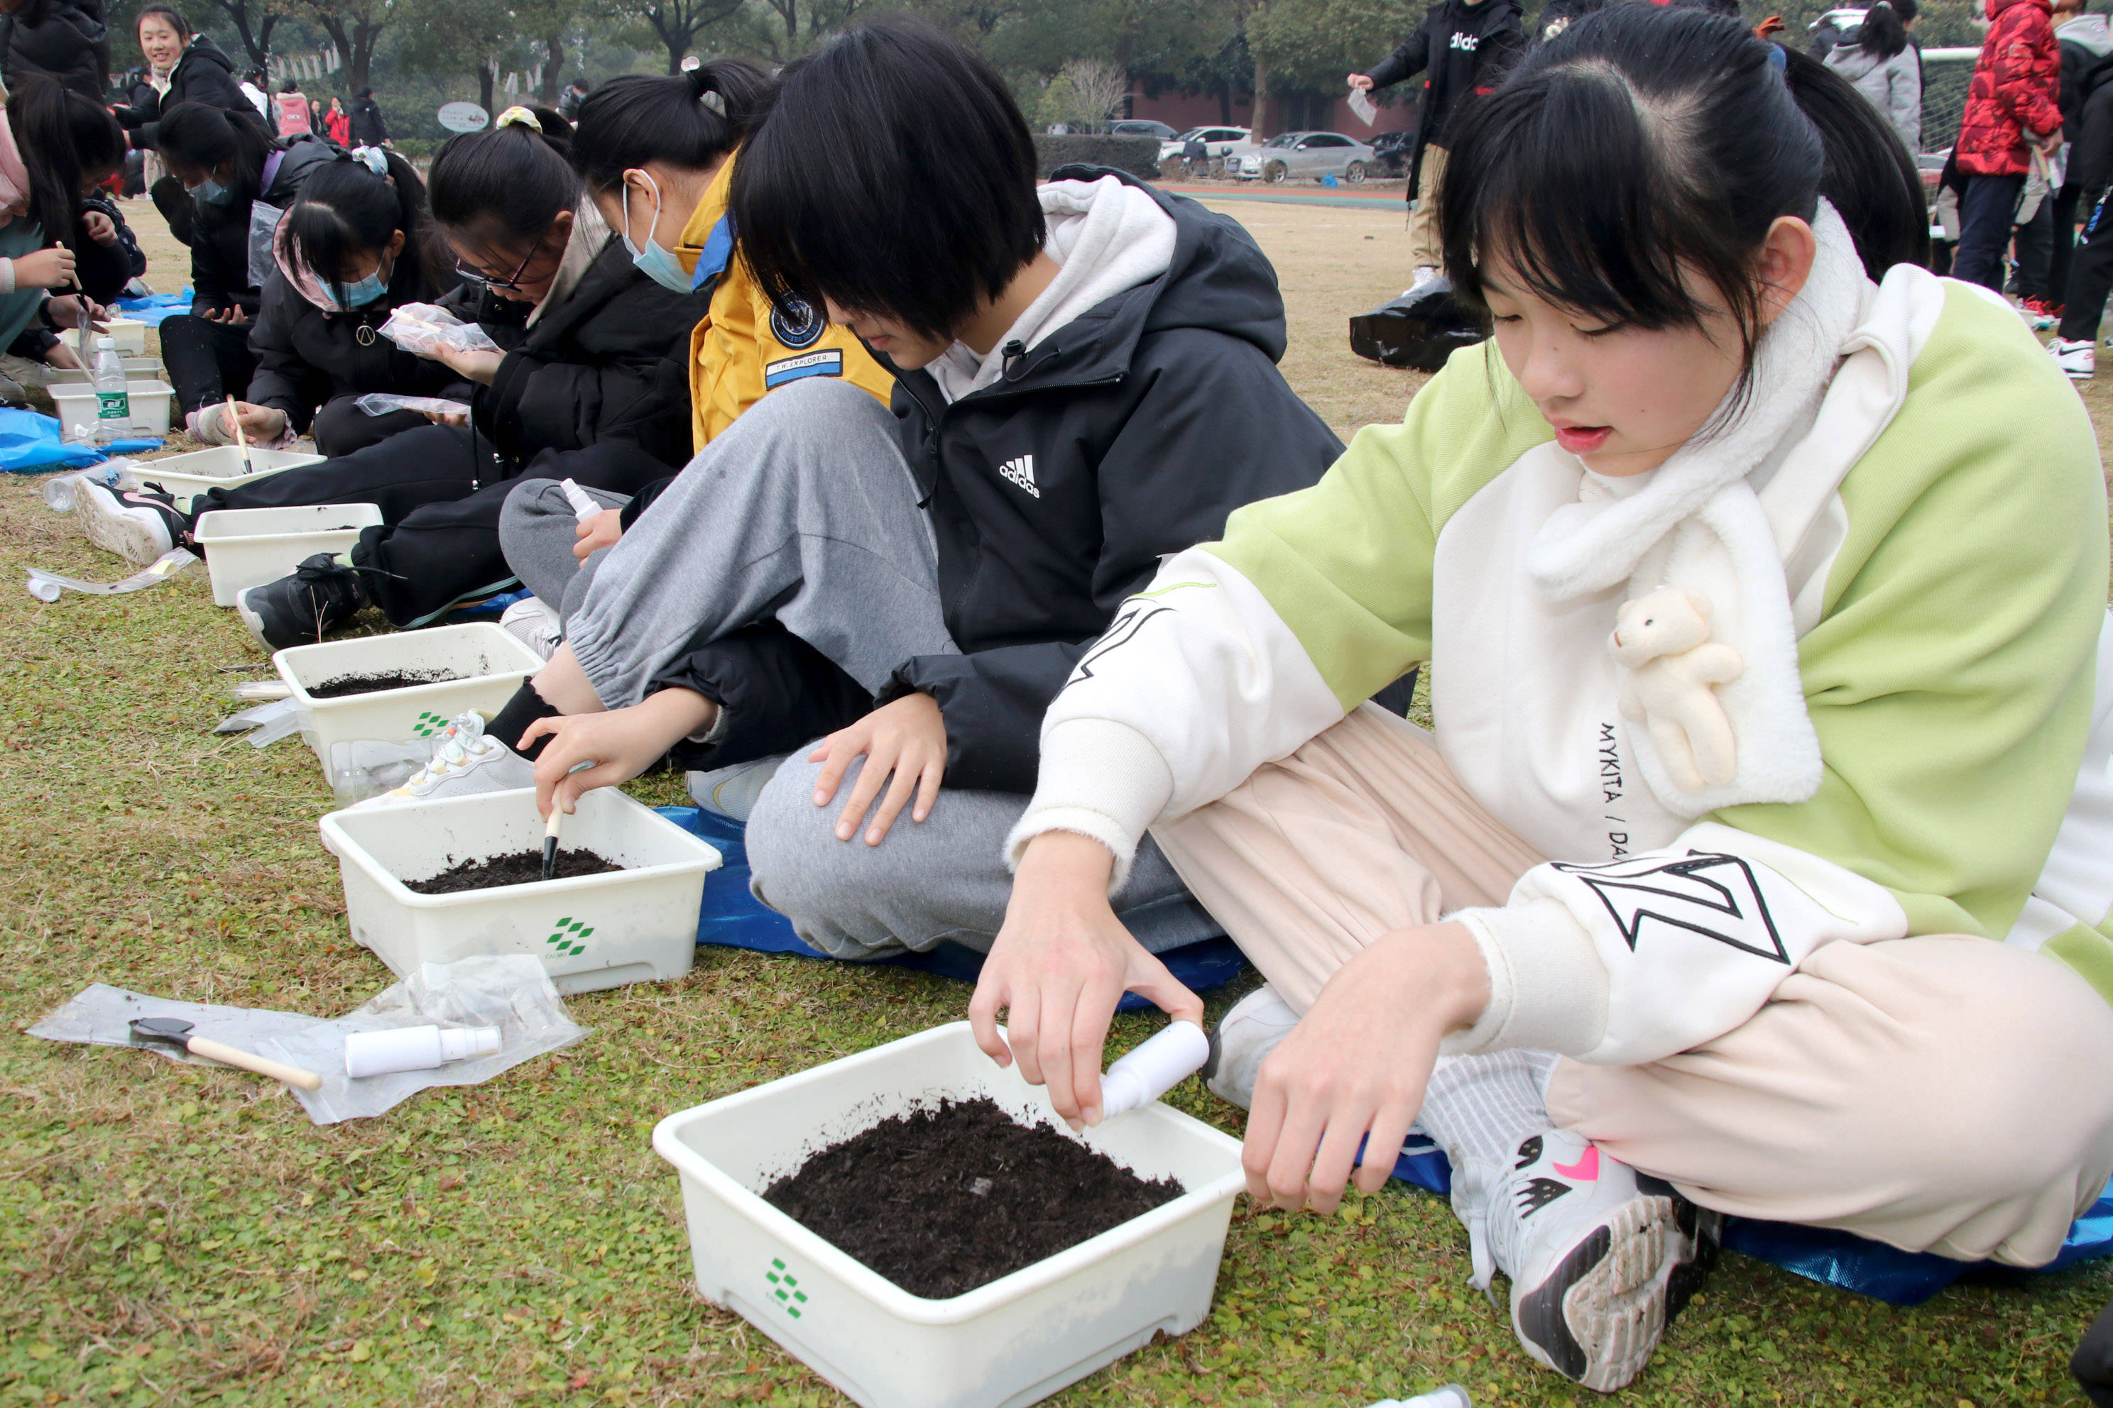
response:
<path id="1" fill-rule="evenodd" d="M 742 258 L 894 363 L 892 412 L 828 378 L 748 410 L 590 559 L 566 646 L 467 751 L 539 754 L 547 808 L 672 745 L 725 768 L 826 732 L 754 804 L 756 893 L 845 956 L 989 944 L 1086 646 L 1160 555 L 1342 452 L 1234 222 L 1086 167 L 1037 190 L 1033 163 L 999 76 L 925 25 L 786 70 L 735 169 Z M 1118 906 L 1160 948 L 1211 933 L 1156 855 Z"/>

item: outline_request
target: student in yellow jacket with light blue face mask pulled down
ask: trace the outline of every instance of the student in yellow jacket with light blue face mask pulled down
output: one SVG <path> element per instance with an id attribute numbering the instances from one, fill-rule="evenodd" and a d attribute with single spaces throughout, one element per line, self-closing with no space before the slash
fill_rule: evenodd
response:
<path id="1" fill-rule="evenodd" d="M 712 300 L 689 338 L 695 450 L 778 386 L 841 378 L 883 403 L 894 386 L 858 338 L 805 304 L 773 308 L 733 258 L 727 192 L 735 148 L 767 91 L 769 78 L 744 59 L 716 59 L 676 78 L 628 74 L 581 99 L 573 133 L 573 169 L 638 270 Z M 566 600 L 579 595 L 579 564 L 615 543 L 670 481 L 630 500 L 602 496 L 604 513 L 579 526 L 556 479 L 524 479 L 507 498 L 499 534 L 507 564 L 537 595 L 509 610 L 507 629 L 547 654 Z"/>

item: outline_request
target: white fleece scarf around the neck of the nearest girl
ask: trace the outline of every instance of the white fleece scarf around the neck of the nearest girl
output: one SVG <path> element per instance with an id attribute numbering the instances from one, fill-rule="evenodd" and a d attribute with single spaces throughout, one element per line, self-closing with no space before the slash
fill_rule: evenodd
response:
<path id="1" fill-rule="evenodd" d="M 1802 802 L 1819 789 L 1819 737 L 1805 711 L 1783 559 L 1747 483 L 1811 420 L 1862 315 L 1864 264 L 1826 201 L 1813 234 L 1819 245 L 1813 272 L 1760 336 L 1743 410 L 1673 452 L 1635 494 L 1564 505 L 1526 549 L 1526 570 L 1551 602 L 1623 583 L 1629 597 L 1667 585 L 1709 595 L 1712 640 L 1737 648 L 1745 661 L 1737 680 L 1716 688 L 1737 739 L 1733 781 L 1682 792 L 1648 730 L 1631 730 L 1650 789 L 1682 817 L 1747 802 Z"/>

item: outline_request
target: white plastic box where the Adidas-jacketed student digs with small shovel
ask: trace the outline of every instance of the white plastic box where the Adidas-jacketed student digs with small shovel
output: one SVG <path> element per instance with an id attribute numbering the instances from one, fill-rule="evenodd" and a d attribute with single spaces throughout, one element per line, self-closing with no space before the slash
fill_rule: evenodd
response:
<path id="1" fill-rule="evenodd" d="M 687 973 L 697 956 L 704 876 L 718 870 L 718 851 L 615 787 L 585 794 L 564 819 L 564 846 L 630 865 L 604 876 L 461 895 L 404 887 L 461 861 L 541 855 L 535 787 L 330 813 L 323 846 L 344 876 L 353 937 L 397 977 L 420 963 L 535 954 L 564 994 Z"/>

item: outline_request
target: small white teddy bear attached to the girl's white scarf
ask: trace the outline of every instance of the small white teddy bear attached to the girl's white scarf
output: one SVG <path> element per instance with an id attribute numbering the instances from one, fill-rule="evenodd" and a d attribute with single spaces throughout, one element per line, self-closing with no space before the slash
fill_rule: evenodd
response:
<path id="1" fill-rule="evenodd" d="M 1608 646 L 1627 667 L 1621 716 L 1650 730 L 1673 783 L 1682 792 L 1728 783 L 1739 754 L 1724 705 L 1709 686 L 1737 680 L 1745 661 L 1709 640 L 1709 597 L 1659 587 L 1623 602 Z"/>

